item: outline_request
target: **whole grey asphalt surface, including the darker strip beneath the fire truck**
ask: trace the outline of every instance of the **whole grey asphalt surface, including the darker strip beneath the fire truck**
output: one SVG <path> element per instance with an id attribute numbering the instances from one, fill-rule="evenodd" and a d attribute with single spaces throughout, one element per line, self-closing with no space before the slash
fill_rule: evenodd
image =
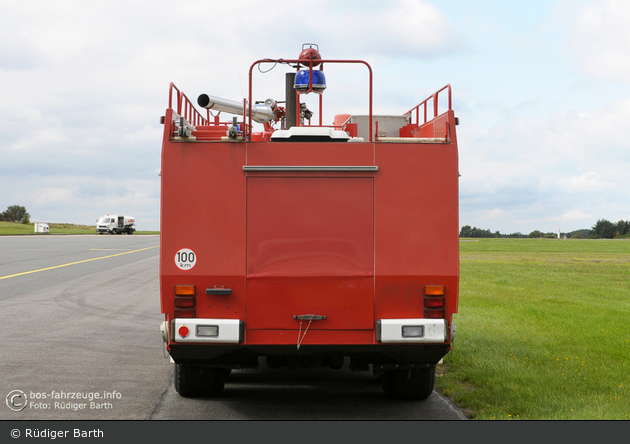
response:
<path id="1" fill-rule="evenodd" d="M 371 372 L 233 371 L 182 398 L 159 325 L 159 236 L 0 237 L 0 420 L 462 420 L 385 398 Z M 11 408 L 12 407 L 12 408 Z"/>

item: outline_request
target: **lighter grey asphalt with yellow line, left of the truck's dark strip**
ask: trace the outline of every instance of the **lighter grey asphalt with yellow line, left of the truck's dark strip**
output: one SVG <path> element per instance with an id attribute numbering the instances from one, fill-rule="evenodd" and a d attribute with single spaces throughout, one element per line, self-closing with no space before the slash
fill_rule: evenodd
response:
<path id="1" fill-rule="evenodd" d="M 162 354 L 158 236 L 0 237 L 0 419 L 147 419 Z M 18 399 L 19 403 L 19 399 Z"/>

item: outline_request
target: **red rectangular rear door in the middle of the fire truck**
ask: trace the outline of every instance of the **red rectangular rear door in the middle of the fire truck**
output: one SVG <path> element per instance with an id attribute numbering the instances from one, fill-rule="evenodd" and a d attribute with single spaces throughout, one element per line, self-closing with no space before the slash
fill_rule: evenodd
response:
<path id="1" fill-rule="evenodd" d="M 374 328 L 374 178 L 248 177 L 248 329 Z"/>

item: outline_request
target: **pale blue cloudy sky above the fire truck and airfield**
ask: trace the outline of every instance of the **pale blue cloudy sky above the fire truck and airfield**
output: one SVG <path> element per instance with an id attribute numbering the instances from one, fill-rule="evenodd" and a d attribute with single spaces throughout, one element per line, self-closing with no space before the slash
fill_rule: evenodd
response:
<path id="1" fill-rule="evenodd" d="M 460 226 L 630 220 L 628 29 L 625 0 L 0 0 L 0 211 L 159 230 L 170 82 L 241 101 L 252 63 L 316 43 L 371 65 L 375 114 L 451 85 Z M 254 99 L 284 100 L 284 72 L 255 72 Z M 324 124 L 367 114 L 365 72 L 326 76 Z"/>

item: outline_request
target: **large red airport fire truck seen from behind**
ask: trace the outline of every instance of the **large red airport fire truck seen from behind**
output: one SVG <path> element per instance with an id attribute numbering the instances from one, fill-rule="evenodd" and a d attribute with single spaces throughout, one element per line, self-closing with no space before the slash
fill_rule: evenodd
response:
<path id="1" fill-rule="evenodd" d="M 323 125 L 324 67 L 339 64 L 367 73 L 367 113 Z M 253 101 L 253 74 L 278 67 L 285 100 Z M 201 94 L 197 108 L 170 85 L 161 331 L 181 396 L 217 395 L 261 362 L 349 365 L 389 397 L 432 393 L 458 303 L 451 87 L 400 115 L 374 114 L 372 94 L 368 63 L 313 44 L 253 63 L 241 102 Z"/>

